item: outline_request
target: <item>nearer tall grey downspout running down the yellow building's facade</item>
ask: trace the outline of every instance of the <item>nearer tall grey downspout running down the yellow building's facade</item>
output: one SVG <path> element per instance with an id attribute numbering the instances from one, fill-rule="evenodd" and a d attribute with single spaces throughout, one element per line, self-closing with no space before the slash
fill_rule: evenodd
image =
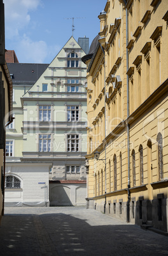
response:
<path id="1" fill-rule="evenodd" d="M 126 8 L 126 45 L 129 43 L 128 10 Z M 129 70 L 129 52 L 127 48 L 127 71 Z M 127 120 L 129 118 L 129 76 L 127 75 Z M 127 222 L 130 222 L 130 134 L 127 122 L 127 150 L 128 150 L 128 200 L 127 200 Z"/>

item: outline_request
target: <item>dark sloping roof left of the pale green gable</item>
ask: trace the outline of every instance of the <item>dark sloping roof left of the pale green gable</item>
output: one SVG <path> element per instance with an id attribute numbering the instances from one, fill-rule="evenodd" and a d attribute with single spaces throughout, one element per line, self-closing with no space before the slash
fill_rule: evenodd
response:
<path id="1" fill-rule="evenodd" d="M 34 84 L 49 64 L 8 63 L 13 83 Z"/>

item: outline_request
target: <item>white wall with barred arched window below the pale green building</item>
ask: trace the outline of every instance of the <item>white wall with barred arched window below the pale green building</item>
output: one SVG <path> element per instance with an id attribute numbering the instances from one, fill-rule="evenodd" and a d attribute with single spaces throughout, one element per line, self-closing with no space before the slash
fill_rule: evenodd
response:
<path id="1" fill-rule="evenodd" d="M 21 188 L 6 188 L 6 206 L 49 206 L 50 164 L 6 164 L 6 175 L 16 176 Z"/>

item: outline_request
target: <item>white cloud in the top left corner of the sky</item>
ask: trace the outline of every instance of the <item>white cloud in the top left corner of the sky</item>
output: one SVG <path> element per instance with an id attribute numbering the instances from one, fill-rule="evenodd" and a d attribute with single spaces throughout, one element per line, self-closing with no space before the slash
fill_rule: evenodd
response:
<path id="1" fill-rule="evenodd" d="M 4 0 L 6 38 L 19 35 L 31 20 L 29 11 L 36 10 L 39 4 L 41 0 Z"/>

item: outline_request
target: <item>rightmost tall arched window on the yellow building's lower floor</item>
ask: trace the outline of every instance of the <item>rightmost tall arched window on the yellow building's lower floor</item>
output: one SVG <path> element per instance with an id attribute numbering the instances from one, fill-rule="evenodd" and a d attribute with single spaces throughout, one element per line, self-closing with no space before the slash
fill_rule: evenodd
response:
<path id="1" fill-rule="evenodd" d="M 158 144 L 158 178 L 159 180 L 164 179 L 164 161 L 163 161 L 163 139 L 162 134 L 159 132 L 157 135 Z"/>

